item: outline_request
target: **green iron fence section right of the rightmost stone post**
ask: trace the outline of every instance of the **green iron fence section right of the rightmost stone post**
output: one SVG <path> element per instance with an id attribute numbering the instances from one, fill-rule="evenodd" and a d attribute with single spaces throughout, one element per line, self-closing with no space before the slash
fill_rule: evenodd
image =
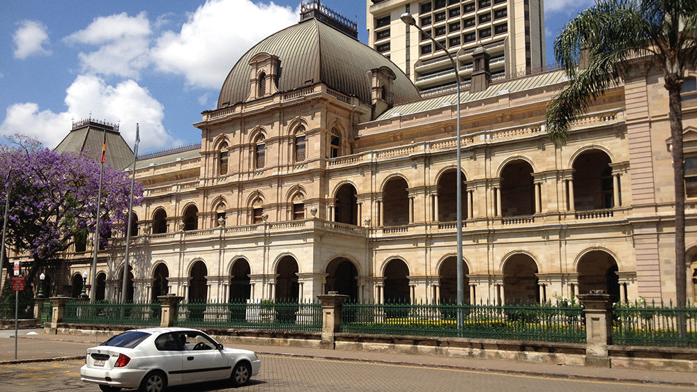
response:
<path id="1" fill-rule="evenodd" d="M 683 336 L 680 324 L 685 326 Z M 646 301 L 615 304 L 612 337 L 615 345 L 697 347 L 697 306 L 678 308 L 672 302 Z"/>

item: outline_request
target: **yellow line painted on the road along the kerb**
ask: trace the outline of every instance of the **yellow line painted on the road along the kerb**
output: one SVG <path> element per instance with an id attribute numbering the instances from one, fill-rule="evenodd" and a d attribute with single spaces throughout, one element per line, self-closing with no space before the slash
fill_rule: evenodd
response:
<path id="1" fill-rule="evenodd" d="M 268 358 L 278 358 L 278 359 L 299 359 L 301 361 L 317 361 L 317 362 L 337 362 L 337 363 L 356 363 L 358 365 L 376 365 L 385 366 L 391 368 L 405 368 L 405 369 L 426 369 L 426 370 L 443 370 L 447 372 L 455 373 L 469 373 L 475 375 L 498 375 L 505 377 L 516 377 L 516 378 L 528 378 L 528 379 L 553 379 L 556 381 L 564 382 L 581 382 L 585 384 L 607 384 L 607 385 L 626 385 L 626 386 L 645 386 L 649 388 L 671 388 L 671 389 L 689 389 L 694 391 L 694 386 L 679 386 L 679 385 L 661 385 L 661 384 L 644 384 L 641 382 L 613 382 L 613 381 L 594 381 L 587 379 L 567 379 L 551 376 L 533 376 L 533 375 L 512 375 L 509 373 L 499 373 L 499 372 L 482 372 L 480 370 L 466 370 L 466 369 L 453 369 L 453 368 L 435 368 L 433 366 L 414 366 L 414 365 L 399 365 L 397 363 L 378 363 L 378 362 L 365 362 L 365 361 L 352 361 L 351 359 L 320 359 L 320 358 L 298 358 L 295 356 L 281 356 L 281 355 L 268 355 L 262 354 L 260 356 L 266 356 Z"/>

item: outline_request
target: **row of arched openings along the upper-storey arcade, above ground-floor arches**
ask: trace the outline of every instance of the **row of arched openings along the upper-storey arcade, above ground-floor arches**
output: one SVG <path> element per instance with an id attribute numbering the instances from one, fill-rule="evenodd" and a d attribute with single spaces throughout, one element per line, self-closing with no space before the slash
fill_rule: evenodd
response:
<path id="1" fill-rule="evenodd" d="M 455 221 L 457 212 L 457 171 L 454 168 L 443 171 L 438 176 L 434 192 L 433 211 L 431 216 L 436 221 Z M 464 219 L 472 218 L 474 203 L 468 197 L 468 187 L 465 173 L 461 174 L 461 208 Z M 602 150 L 586 150 L 574 159 L 572 180 L 567 185 L 569 189 L 567 203 L 570 210 L 600 210 L 615 207 L 619 202 L 619 182 L 613 178 L 610 157 Z M 540 212 L 539 184 L 533 177 L 533 166 L 525 159 L 514 159 L 507 162 L 500 172 L 500 185 L 495 188 L 498 197 L 495 198 L 496 216 L 516 217 Z M 287 220 L 305 219 L 305 191 L 296 187 L 289 196 L 289 214 Z M 247 224 L 261 223 L 264 214 L 264 197 L 255 191 L 247 199 L 249 218 Z M 385 181 L 382 189 L 380 226 L 404 226 L 410 223 L 410 203 L 408 180 L 401 175 L 394 175 Z M 536 205 L 537 203 L 537 205 Z M 224 199 L 214 201 L 215 220 L 225 219 L 226 204 Z M 197 230 L 199 209 L 193 203 L 187 205 L 182 213 L 183 230 Z M 334 195 L 334 204 L 330 210 L 330 219 L 358 225 L 359 217 L 358 191 L 351 183 L 341 185 Z M 137 233 L 137 216 L 133 219 L 132 232 Z M 167 212 L 158 207 L 153 212 L 153 234 L 167 233 Z M 217 225 L 214 225 L 217 226 Z"/>

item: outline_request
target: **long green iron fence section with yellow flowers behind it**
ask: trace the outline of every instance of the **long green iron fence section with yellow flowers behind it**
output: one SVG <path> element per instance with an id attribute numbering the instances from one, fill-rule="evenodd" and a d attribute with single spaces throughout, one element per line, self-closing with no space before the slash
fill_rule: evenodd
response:
<path id="1" fill-rule="evenodd" d="M 463 324 L 456 316 L 462 312 Z M 585 343 L 578 304 L 360 304 L 342 306 L 340 331 L 356 334 L 457 336 Z"/>

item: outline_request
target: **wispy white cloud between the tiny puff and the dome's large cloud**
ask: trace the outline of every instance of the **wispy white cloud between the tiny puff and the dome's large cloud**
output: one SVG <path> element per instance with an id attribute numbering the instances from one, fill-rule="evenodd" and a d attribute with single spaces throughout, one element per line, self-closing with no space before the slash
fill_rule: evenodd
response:
<path id="1" fill-rule="evenodd" d="M 94 52 L 80 52 L 83 72 L 138 78 L 148 59 L 150 21 L 146 13 L 98 17 L 89 26 L 64 38 L 66 42 L 98 45 Z"/>

